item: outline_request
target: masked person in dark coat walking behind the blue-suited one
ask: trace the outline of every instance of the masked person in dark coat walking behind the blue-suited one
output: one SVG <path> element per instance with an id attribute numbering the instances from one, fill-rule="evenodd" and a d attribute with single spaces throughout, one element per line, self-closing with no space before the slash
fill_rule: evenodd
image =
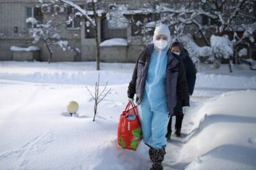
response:
<path id="1" fill-rule="evenodd" d="M 188 83 L 188 91 L 189 91 L 189 97 L 193 94 L 195 82 L 196 82 L 196 68 L 193 64 L 193 61 L 189 57 L 188 50 L 184 49 L 183 45 L 180 42 L 173 42 L 171 45 L 171 50 L 174 56 L 179 57 L 182 59 L 182 63 L 184 65 L 184 69 L 186 72 L 186 79 Z M 177 101 L 177 105 L 174 107 L 174 112 L 176 116 L 176 122 L 175 122 L 175 135 L 177 137 L 180 137 L 180 129 L 182 127 L 182 120 L 184 117 L 184 112 L 182 111 L 182 102 Z M 170 135 L 172 134 L 172 117 L 170 118 L 170 121 L 168 123 L 168 132 L 166 134 L 166 138 L 170 138 Z"/>

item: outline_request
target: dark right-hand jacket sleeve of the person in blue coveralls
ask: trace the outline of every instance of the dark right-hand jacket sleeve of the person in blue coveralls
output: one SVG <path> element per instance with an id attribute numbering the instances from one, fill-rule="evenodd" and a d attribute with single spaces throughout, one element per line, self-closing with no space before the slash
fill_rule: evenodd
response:
<path id="1" fill-rule="evenodd" d="M 179 95 L 179 100 L 182 101 L 182 106 L 188 106 L 189 105 L 188 84 L 187 84 L 184 65 L 181 60 L 179 60 L 177 94 Z"/>

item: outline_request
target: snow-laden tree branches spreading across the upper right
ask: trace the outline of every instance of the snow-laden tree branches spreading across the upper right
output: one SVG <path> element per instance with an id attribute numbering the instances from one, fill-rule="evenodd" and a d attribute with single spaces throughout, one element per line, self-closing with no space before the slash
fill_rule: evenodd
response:
<path id="1" fill-rule="evenodd" d="M 183 36 L 190 30 L 193 36 L 201 36 L 209 47 L 212 46 L 209 41 L 211 35 L 228 35 L 234 47 L 234 56 L 228 58 L 232 72 L 231 59 L 234 59 L 234 63 L 239 63 L 238 50 L 244 46 L 249 48 L 250 43 L 255 42 L 255 5 L 250 0 L 191 0 L 175 7 L 157 2 L 152 5 L 152 9 L 159 15 L 159 19 L 145 24 L 142 28 L 147 31 L 154 29 L 157 22 L 163 22 L 172 27 L 174 36 Z"/>

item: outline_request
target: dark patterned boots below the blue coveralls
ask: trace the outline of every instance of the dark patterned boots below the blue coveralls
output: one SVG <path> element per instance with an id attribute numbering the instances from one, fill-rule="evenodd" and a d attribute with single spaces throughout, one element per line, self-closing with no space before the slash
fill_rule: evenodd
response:
<path id="1" fill-rule="evenodd" d="M 163 148 L 152 148 L 149 149 L 149 157 L 152 161 L 152 167 L 150 170 L 163 170 L 162 162 L 164 155 L 166 154 L 165 146 Z"/>

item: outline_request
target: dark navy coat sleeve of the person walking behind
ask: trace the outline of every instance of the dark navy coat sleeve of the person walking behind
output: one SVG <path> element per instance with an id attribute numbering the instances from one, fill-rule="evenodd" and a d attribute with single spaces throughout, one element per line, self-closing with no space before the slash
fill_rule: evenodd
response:
<path id="1" fill-rule="evenodd" d="M 188 92 L 190 95 L 192 95 L 195 88 L 195 82 L 196 82 L 196 69 L 192 59 L 189 56 L 186 57 L 186 65 L 187 65 L 186 77 L 188 82 Z"/>

